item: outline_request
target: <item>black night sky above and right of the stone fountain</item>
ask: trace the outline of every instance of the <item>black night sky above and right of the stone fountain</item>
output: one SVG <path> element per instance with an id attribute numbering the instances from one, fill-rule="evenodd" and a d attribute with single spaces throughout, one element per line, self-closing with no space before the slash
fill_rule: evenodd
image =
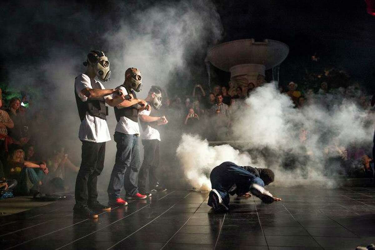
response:
<path id="1" fill-rule="evenodd" d="M 284 84 L 296 81 L 296 72 L 315 52 L 322 64 L 346 69 L 368 88 L 375 81 L 375 16 L 366 13 L 365 1 L 215 2 L 224 41 L 268 38 L 290 47 L 280 68 Z"/>

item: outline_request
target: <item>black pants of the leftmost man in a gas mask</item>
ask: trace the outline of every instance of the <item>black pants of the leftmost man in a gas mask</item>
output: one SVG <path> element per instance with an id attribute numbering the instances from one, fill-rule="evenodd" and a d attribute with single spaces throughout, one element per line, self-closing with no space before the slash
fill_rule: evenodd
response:
<path id="1" fill-rule="evenodd" d="M 87 205 L 98 198 L 96 184 L 104 168 L 105 142 L 82 141 L 82 162 L 75 181 L 76 205 Z"/>

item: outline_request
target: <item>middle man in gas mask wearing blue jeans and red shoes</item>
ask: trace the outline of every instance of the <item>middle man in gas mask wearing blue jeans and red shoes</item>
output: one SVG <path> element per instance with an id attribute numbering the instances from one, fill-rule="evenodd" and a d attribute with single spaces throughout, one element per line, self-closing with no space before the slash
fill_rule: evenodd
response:
<path id="1" fill-rule="evenodd" d="M 127 98 L 114 108 L 117 120 L 114 140 L 117 152 L 107 190 L 110 205 L 127 205 L 127 202 L 120 197 L 122 187 L 126 191 L 127 199 L 145 199 L 147 197 L 141 195 L 136 186 L 141 163 L 138 145 L 138 112 L 151 109 L 144 100 L 136 97 L 135 91 L 139 92 L 141 88 L 141 72 L 136 68 L 127 69 L 124 83 L 117 87 Z"/>

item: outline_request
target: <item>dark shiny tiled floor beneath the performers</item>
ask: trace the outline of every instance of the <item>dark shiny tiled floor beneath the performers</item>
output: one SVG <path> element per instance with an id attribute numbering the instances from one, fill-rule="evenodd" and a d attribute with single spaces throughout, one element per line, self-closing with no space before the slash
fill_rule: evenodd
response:
<path id="1" fill-rule="evenodd" d="M 375 242 L 375 188 L 276 188 L 282 202 L 231 197 L 213 213 L 208 193 L 175 190 L 116 207 L 99 219 L 60 201 L 0 217 L 1 249 L 329 249 Z"/>

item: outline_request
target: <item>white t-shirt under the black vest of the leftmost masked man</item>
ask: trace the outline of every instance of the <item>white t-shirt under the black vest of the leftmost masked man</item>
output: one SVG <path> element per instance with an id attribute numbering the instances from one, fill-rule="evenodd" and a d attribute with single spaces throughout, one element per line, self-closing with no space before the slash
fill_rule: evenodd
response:
<path id="1" fill-rule="evenodd" d="M 81 91 L 84 88 L 99 88 L 104 89 L 103 85 L 96 81 L 95 79 L 90 79 L 88 75 L 81 74 L 77 76 L 74 82 L 75 92 L 78 94 L 78 97 L 83 102 L 87 101 L 87 97 L 81 94 Z M 100 97 L 104 100 L 106 97 Z M 108 130 L 107 121 L 92 116 L 89 112 L 86 112 L 86 116 L 81 122 L 80 131 L 78 132 L 78 137 L 81 141 L 90 141 L 90 142 L 107 142 L 111 141 L 110 131 Z"/>

